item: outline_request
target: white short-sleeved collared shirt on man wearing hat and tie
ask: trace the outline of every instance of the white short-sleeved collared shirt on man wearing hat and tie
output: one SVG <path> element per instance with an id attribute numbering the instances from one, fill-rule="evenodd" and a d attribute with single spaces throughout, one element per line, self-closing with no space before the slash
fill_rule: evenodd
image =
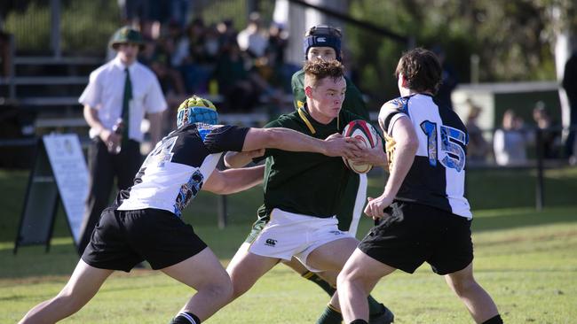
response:
<path id="1" fill-rule="evenodd" d="M 125 67 L 120 58 L 116 57 L 92 71 L 90 81 L 78 99 L 80 104 L 88 104 L 98 110 L 100 122 L 108 129 L 112 129 L 123 113 Z M 167 108 L 167 104 L 156 75 L 148 67 L 135 61 L 128 69 L 132 83 L 129 137 L 142 142 L 144 134 L 140 130 L 140 124 L 145 113 L 162 112 Z M 96 129 L 91 128 L 91 138 L 98 135 L 96 132 Z"/>

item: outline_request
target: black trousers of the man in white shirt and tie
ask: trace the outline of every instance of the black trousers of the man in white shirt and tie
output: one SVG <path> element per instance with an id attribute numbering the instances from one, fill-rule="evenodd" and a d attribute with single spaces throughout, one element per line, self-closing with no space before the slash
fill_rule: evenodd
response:
<path id="1" fill-rule="evenodd" d="M 112 154 L 99 137 L 92 139 L 88 148 L 89 190 L 77 246 L 79 255 L 91 242 L 92 230 L 100 219 L 100 212 L 109 204 L 115 178 L 118 190 L 128 189 L 141 164 L 140 143 L 130 140 L 119 154 Z"/>

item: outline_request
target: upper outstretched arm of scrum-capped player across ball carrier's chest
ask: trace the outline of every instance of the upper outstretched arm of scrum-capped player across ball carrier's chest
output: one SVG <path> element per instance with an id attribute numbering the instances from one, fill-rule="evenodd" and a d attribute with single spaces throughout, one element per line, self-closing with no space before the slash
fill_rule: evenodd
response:
<path id="1" fill-rule="evenodd" d="M 242 151 L 265 148 L 308 151 L 329 157 L 352 158 L 354 157 L 353 151 L 357 150 L 356 141 L 354 138 L 343 137 L 342 135 L 329 136 L 323 141 L 282 127 L 250 128 L 244 140 Z"/>

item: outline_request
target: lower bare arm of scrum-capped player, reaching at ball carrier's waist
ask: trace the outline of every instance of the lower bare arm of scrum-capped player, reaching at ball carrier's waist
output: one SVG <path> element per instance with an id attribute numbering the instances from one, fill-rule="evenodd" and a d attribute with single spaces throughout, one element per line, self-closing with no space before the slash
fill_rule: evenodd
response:
<path id="1" fill-rule="evenodd" d="M 202 185 L 202 190 L 229 195 L 250 189 L 263 181 L 265 166 L 244 167 L 220 171 L 215 169 Z"/>

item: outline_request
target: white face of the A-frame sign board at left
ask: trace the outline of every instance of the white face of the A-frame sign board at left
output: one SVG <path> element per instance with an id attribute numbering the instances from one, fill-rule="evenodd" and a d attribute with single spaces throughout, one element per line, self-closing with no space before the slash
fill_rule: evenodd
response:
<path id="1" fill-rule="evenodd" d="M 45 135 L 43 143 L 56 178 L 72 236 L 75 243 L 78 243 L 89 178 L 78 135 Z"/>

